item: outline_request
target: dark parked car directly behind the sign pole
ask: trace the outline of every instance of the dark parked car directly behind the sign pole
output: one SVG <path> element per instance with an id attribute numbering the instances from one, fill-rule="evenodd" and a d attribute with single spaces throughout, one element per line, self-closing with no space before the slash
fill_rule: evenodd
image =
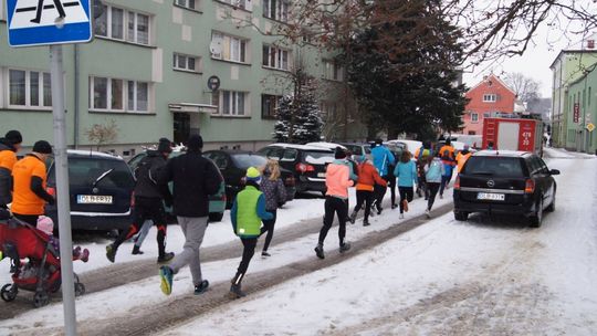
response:
<path id="1" fill-rule="evenodd" d="M 135 178 L 123 158 L 87 150 L 67 150 L 67 157 L 72 229 L 109 231 L 128 228 Z M 48 192 L 56 195 L 56 167 L 53 160 L 46 166 Z M 48 204 L 45 213 L 57 223 L 56 204 Z"/>

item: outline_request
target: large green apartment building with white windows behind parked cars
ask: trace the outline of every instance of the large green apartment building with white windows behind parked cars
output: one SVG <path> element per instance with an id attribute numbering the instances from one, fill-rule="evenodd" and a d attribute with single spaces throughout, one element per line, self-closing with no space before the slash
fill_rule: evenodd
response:
<path id="1" fill-rule="evenodd" d="M 94 40 L 63 50 L 71 147 L 94 146 L 90 127 L 114 120 L 117 138 L 101 149 L 125 157 L 159 137 L 180 143 L 193 133 L 202 135 L 206 149 L 259 149 L 272 141 L 274 109 L 282 95 L 292 93 L 291 73 L 300 63 L 317 78 L 327 138 L 365 137 L 354 117 L 339 117 L 346 106 L 344 71 L 329 53 L 262 33 L 291 20 L 289 2 L 102 2 Z M 20 129 L 25 146 L 52 141 L 49 49 L 9 48 L 6 20 L 2 0 L 0 133 Z M 212 91 L 208 80 L 216 77 L 219 88 Z M 358 115 L 354 105 L 349 114 Z"/>

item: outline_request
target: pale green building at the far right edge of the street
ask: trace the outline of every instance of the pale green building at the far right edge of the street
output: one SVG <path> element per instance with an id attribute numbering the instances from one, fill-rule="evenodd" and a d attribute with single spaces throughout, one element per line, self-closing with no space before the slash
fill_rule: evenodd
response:
<path id="1" fill-rule="evenodd" d="M 563 50 L 549 66 L 553 73 L 552 138 L 555 147 L 595 151 L 595 145 L 591 147 L 590 144 L 594 144 L 596 135 L 586 128 L 597 117 L 596 85 L 590 80 L 595 76 L 590 73 L 597 64 L 597 50 L 591 39 L 585 40 L 577 50 Z"/>

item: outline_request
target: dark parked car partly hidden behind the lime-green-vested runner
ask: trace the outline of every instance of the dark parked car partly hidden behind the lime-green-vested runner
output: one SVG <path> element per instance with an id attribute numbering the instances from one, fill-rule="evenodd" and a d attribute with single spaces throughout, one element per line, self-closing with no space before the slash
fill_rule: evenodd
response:
<path id="1" fill-rule="evenodd" d="M 244 187 L 244 176 L 249 167 L 264 167 L 268 158 L 262 154 L 243 150 L 207 150 L 203 156 L 211 159 L 226 181 L 228 208 L 232 207 L 237 193 Z M 286 187 L 286 201 L 293 200 L 296 193 L 294 176 L 281 167 L 281 178 Z"/>

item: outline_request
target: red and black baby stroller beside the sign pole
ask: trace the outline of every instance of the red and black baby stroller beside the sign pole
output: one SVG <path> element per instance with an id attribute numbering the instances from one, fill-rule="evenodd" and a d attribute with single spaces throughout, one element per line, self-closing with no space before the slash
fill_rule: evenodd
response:
<path id="1" fill-rule="evenodd" d="M 0 252 L 11 260 L 12 284 L 0 290 L 0 297 L 11 302 L 19 290 L 34 292 L 33 304 L 42 307 L 50 302 L 50 294 L 61 286 L 60 258 L 50 237 L 35 227 L 12 218 L 0 209 Z M 28 259 L 27 262 L 24 260 Z M 75 295 L 85 293 L 85 286 L 75 279 Z"/>

